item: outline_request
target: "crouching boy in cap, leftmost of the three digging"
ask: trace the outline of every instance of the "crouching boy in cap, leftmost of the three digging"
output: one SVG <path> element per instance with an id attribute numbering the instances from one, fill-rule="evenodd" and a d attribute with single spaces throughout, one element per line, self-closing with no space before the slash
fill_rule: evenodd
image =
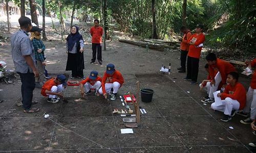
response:
<path id="1" fill-rule="evenodd" d="M 63 97 L 61 91 L 67 86 L 67 83 L 65 81 L 65 75 L 57 75 L 57 78 L 52 78 L 48 80 L 44 84 L 44 86 L 42 86 L 41 94 L 43 96 L 49 96 L 47 99 L 49 103 L 58 103 L 60 99 L 59 97 Z"/>

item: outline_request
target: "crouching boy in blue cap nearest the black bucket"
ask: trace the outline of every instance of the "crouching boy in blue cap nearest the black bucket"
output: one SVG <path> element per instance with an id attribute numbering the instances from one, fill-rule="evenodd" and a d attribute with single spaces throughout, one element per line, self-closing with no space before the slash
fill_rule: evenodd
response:
<path id="1" fill-rule="evenodd" d="M 107 98 L 106 93 L 110 93 L 110 100 L 115 100 L 116 94 L 123 82 L 123 76 L 118 70 L 115 69 L 115 65 L 108 64 L 106 65 L 106 71 L 102 78 L 99 93 L 103 94 L 105 98 Z"/>

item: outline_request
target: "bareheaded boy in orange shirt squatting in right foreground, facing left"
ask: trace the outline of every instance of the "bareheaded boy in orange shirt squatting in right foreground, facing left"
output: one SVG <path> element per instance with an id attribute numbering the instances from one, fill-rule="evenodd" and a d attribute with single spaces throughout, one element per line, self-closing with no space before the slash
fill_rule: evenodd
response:
<path id="1" fill-rule="evenodd" d="M 221 121 L 227 122 L 231 120 L 236 110 L 243 109 L 246 101 L 246 90 L 244 86 L 238 82 L 239 75 L 237 72 L 230 72 L 227 75 L 227 83 L 223 93 L 218 93 L 221 97 L 222 105 L 218 106 L 217 103 L 212 103 L 211 108 L 224 112 L 224 117 Z"/>

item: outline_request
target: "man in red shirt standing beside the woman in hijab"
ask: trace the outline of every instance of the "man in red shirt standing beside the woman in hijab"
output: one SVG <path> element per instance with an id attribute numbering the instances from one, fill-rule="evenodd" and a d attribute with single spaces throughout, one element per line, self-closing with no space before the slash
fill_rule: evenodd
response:
<path id="1" fill-rule="evenodd" d="M 93 58 L 91 60 L 91 64 L 93 64 L 96 60 L 96 53 L 97 53 L 97 60 L 99 64 L 102 64 L 102 56 L 101 56 L 101 37 L 103 35 L 103 29 L 99 26 L 99 20 L 94 20 L 94 27 L 90 29 L 90 33 L 92 36 L 92 49 L 93 49 Z"/>

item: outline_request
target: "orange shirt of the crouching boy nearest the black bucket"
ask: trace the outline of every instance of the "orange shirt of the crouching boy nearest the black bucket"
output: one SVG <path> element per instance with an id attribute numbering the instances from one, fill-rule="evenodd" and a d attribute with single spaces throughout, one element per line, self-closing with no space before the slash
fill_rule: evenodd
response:
<path id="1" fill-rule="evenodd" d="M 103 78 L 102 78 L 102 82 L 101 82 L 103 94 L 106 93 L 105 83 L 114 83 L 114 82 L 118 82 L 122 86 L 122 84 L 124 82 L 122 74 L 118 70 L 115 70 L 113 75 L 110 75 L 105 72 L 103 75 Z"/>

